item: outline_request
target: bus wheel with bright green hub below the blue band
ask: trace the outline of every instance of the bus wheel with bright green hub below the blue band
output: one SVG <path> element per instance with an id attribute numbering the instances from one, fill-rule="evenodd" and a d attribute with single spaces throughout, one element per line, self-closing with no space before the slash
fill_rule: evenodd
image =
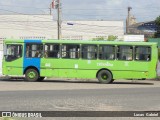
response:
<path id="1" fill-rule="evenodd" d="M 39 78 L 38 71 L 33 68 L 30 68 L 25 72 L 26 81 L 35 82 L 38 80 L 38 78 Z"/>

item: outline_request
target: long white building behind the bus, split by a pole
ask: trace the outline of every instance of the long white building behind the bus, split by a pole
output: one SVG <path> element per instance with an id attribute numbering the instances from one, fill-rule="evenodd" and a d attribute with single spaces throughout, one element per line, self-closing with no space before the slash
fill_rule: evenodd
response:
<path id="1" fill-rule="evenodd" d="M 0 15 L 1 39 L 57 39 L 51 15 Z M 91 40 L 109 35 L 123 39 L 123 21 L 63 21 L 62 39 Z"/>

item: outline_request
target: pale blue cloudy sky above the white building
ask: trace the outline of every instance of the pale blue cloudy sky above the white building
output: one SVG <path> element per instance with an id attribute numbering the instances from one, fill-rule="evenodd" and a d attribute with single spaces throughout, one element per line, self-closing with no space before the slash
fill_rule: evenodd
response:
<path id="1" fill-rule="evenodd" d="M 48 14 L 52 0 L 0 0 L 0 14 Z M 160 0 L 60 0 L 62 20 L 125 20 L 127 7 L 137 22 L 155 20 Z M 55 9 L 53 10 L 55 13 Z M 54 15 L 53 15 L 54 16 Z"/>

